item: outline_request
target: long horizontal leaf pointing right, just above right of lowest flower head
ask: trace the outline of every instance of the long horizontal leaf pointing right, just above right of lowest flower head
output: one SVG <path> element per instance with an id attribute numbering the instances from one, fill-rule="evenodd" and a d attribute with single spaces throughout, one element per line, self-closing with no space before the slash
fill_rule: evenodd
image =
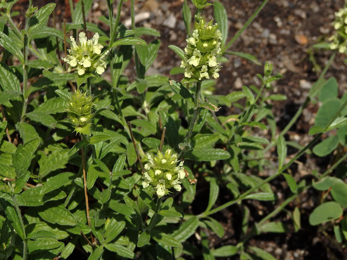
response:
<path id="1" fill-rule="evenodd" d="M 185 158 L 195 161 L 214 161 L 228 159 L 230 154 L 222 149 L 208 148 L 188 152 L 185 154 Z"/>

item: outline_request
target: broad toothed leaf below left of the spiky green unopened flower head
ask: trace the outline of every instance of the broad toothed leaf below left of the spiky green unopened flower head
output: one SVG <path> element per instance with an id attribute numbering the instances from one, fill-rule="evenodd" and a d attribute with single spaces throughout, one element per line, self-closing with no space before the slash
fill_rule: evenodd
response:
<path id="1" fill-rule="evenodd" d="M 65 164 L 69 159 L 68 153 L 68 149 L 55 150 L 47 157 L 44 157 L 40 161 L 40 176 L 44 177 L 52 171 L 65 168 Z"/>

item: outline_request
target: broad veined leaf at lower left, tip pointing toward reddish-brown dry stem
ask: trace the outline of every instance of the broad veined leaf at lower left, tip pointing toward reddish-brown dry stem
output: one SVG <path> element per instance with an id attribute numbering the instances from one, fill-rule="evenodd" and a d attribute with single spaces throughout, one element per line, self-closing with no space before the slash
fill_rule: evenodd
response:
<path id="1" fill-rule="evenodd" d="M 37 207 L 37 213 L 40 217 L 52 224 L 64 226 L 76 226 L 77 222 L 65 205 L 58 202 L 48 202 L 43 206 Z"/>

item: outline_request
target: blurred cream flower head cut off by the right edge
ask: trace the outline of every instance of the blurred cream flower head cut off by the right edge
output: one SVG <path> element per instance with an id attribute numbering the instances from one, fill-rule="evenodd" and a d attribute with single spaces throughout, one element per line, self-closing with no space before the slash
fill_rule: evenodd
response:
<path id="1" fill-rule="evenodd" d="M 345 7 L 335 12 L 335 21 L 332 25 L 336 30 L 329 40 L 331 50 L 338 50 L 340 53 L 345 53 L 347 50 L 347 1 Z"/>

